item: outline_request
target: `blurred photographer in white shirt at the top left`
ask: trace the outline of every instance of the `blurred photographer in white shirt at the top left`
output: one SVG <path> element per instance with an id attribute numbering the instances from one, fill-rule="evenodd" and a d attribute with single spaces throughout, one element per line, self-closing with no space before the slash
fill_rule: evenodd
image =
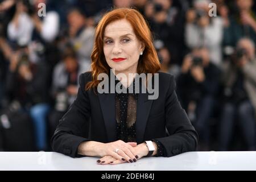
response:
<path id="1" fill-rule="evenodd" d="M 45 4 L 47 1 L 32 2 L 16 1 L 16 13 L 8 26 L 7 34 L 10 40 L 17 42 L 19 46 L 27 45 L 35 39 L 52 42 L 59 32 L 59 15 L 56 11 L 47 11 L 46 16 L 39 17 L 39 4 Z"/>

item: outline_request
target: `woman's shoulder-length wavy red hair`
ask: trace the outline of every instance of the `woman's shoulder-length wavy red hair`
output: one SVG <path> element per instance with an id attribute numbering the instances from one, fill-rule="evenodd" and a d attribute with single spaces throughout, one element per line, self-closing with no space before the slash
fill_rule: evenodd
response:
<path id="1" fill-rule="evenodd" d="M 95 42 L 93 46 L 92 55 L 92 81 L 86 84 L 85 89 L 89 90 L 96 88 L 100 83 L 97 77 L 100 73 L 109 73 L 110 67 L 106 62 L 104 51 L 103 51 L 103 38 L 106 26 L 116 20 L 126 19 L 131 26 L 137 38 L 144 43 L 143 55 L 140 56 L 137 73 L 156 73 L 160 69 L 160 62 L 158 55 L 152 43 L 153 38 L 148 27 L 146 20 L 143 18 L 141 13 L 135 9 L 114 9 L 109 13 L 106 13 L 96 27 Z"/>

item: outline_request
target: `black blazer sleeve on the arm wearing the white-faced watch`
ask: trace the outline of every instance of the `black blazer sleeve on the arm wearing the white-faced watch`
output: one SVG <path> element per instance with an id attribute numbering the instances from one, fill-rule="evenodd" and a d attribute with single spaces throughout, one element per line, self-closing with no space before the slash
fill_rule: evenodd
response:
<path id="1" fill-rule="evenodd" d="M 174 76 L 171 76 L 165 104 L 166 128 L 169 136 L 156 139 L 163 145 L 167 157 L 195 151 L 198 141 L 195 128 L 177 100 L 175 87 Z"/>

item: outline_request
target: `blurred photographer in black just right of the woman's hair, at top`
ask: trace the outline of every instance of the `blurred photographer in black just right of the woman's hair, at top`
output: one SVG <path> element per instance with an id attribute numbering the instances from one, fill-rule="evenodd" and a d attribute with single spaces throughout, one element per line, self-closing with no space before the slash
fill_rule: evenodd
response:
<path id="1" fill-rule="evenodd" d="M 170 0 L 153 0 L 145 6 L 145 16 L 155 34 L 172 55 L 173 63 L 180 64 L 184 48 L 184 15 Z"/>

